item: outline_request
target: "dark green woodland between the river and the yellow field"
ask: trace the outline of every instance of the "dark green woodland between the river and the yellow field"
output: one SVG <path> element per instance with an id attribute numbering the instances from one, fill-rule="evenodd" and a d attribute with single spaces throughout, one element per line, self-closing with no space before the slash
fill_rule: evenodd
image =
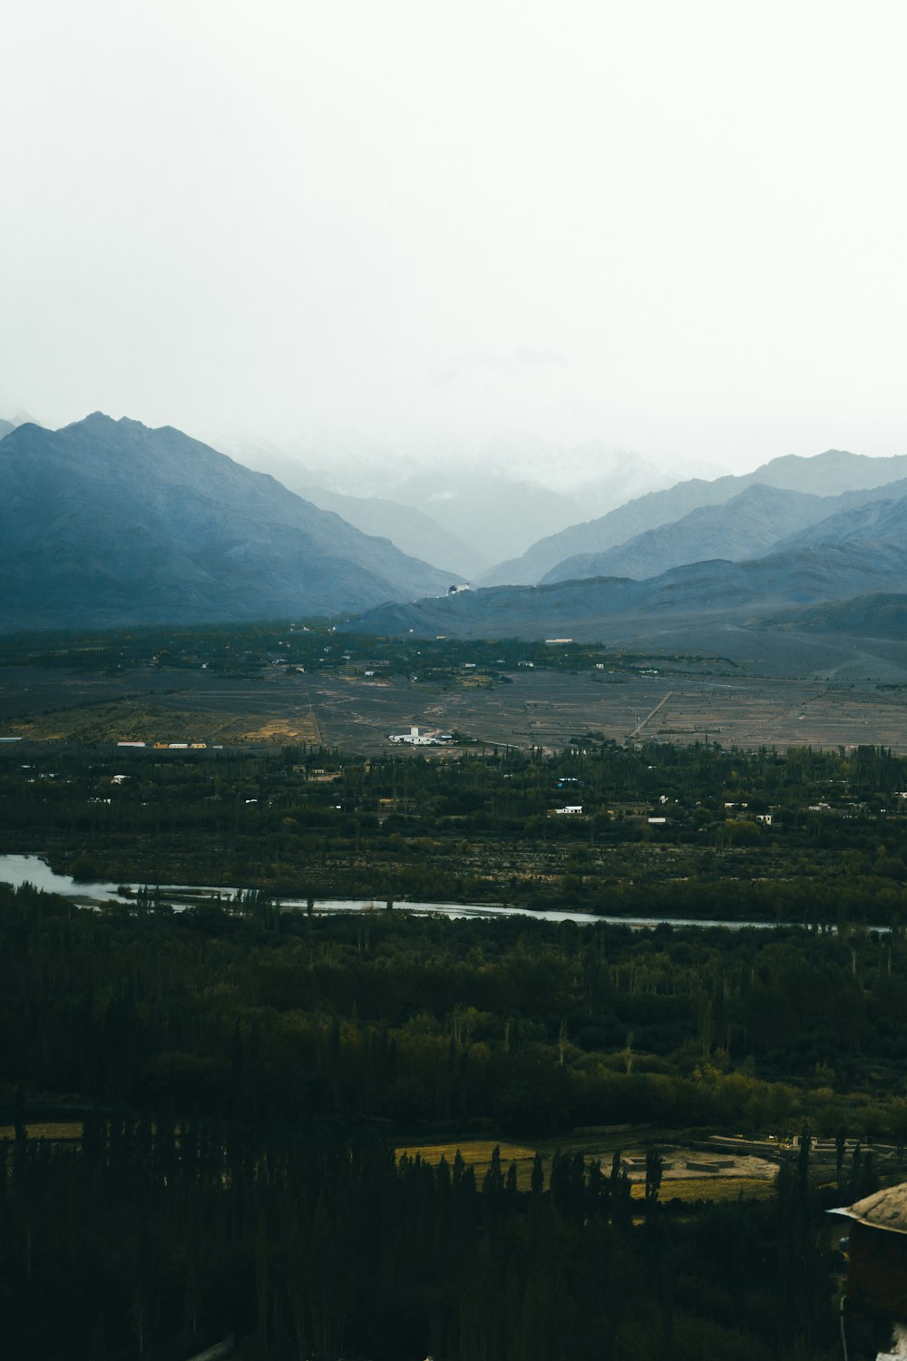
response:
<path id="1" fill-rule="evenodd" d="M 0 887 L 0 1081 L 205 1119 L 650 1121 L 900 1145 L 900 931 L 632 931 Z M 872 1083 L 866 1074 L 872 1072 Z"/>

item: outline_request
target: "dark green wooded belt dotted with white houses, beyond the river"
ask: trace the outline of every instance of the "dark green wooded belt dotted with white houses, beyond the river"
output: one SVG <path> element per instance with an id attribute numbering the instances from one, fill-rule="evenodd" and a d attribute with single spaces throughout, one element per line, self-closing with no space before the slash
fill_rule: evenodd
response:
<path id="1" fill-rule="evenodd" d="M 885 749 L 581 735 L 556 758 L 4 757 L 0 848 L 83 878 L 824 925 L 907 916 L 907 762 Z M 566 804 L 583 811 L 558 815 Z"/>

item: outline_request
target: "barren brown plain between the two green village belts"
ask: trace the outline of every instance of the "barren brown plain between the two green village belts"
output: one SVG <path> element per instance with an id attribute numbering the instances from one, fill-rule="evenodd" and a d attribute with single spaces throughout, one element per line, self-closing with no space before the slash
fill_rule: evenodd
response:
<path id="1" fill-rule="evenodd" d="M 907 686 L 738 676 L 517 671 L 488 686 L 404 678 L 261 678 L 136 668 L 116 676 L 0 668 L 0 736 L 208 744 L 324 743 L 374 755 L 411 724 L 558 751 L 570 738 L 907 750 Z M 408 749 L 397 746 L 397 753 Z"/>

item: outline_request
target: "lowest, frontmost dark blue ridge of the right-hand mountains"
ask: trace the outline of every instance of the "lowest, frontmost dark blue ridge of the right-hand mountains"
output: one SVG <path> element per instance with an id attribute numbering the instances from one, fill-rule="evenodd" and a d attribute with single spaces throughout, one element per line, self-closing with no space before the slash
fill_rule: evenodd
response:
<path id="1" fill-rule="evenodd" d="M 571 637 L 669 653 L 717 652 L 772 674 L 863 666 L 903 676 L 907 638 L 897 626 L 904 595 L 907 495 L 842 510 L 751 561 L 700 561 L 642 581 L 485 587 L 383 606 L 351 626 L 416 637 Z M 801 641 L 794 644 L 793 636 Z M 872 638 L 887 640 L 884 656 L 868 652 Z"/>

